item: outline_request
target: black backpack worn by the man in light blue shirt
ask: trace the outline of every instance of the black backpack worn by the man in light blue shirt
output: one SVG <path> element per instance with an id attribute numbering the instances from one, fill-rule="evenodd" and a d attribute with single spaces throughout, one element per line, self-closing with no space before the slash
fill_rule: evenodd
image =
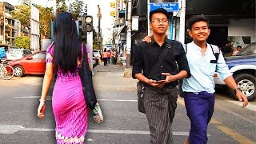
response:
<path id="1" fill-rule="evenodd" d="M 184 47 L 184 46 L 183 46 L 183 47 Z M 218 62 L 218 55 L 219 55 L 219 52 L 220 52 L 220 50 L 218 49 L 218 46 L 212 46 L 212 45 L 210 44 L 210 47 L 211 47 L 211 50 L 213 51 L 213 54 L 214 54 L 214 56 L 215 56 L 215 58 L 216 58 L 216 61 Z M 184 47 L 184 51 L 185 51 L 185 54 L 186 54 L 186 51 L 187 51 L 187 46 L 186 46 L 186 44 L 185 44 L 185 47 Z M 178 82 L 179 96 L 182 97 L 182 98 L 184 98 L 184 92 L 183 92 L 183 90 L 182 90 L 183 79 L 184 79 L 184 78 L 180 79 L 179 82 Z"/>

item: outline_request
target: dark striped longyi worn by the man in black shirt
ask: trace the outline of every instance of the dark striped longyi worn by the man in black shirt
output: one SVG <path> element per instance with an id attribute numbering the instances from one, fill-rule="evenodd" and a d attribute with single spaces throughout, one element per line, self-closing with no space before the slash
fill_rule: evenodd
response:
<path id="1" fill-rule="evenodd" d="M 146 86 L 143 96 L 146 118 L 150 125 L 150 143 L 174 143 L 171 124 L 177 108 L 178 89 Z"/>

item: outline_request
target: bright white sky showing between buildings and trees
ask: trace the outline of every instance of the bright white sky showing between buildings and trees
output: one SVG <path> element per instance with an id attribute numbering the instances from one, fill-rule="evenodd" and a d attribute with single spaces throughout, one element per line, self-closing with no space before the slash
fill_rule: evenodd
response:
<path id="1" fill-rule="evenodd" d="M 0 0 L 10 3 L 11 5 L 18 5 L 18 2 L 21 0 Z M 31 0 L 32 3 L 36 3 L 41 6 L 54 6 L 54 0 Z M 113 25 L 114 25 L 114 18 L 110 16 L 110 11 L 114 10 L 110 8 L 110 2 L 115 2 L 115 0 L 83 0 L 83 2 L 88 6 L 88 15 L 92 15 L 94 19 L 94 28 L 98 30 L 98 5 L 101 8 L 102 20 L 101 20 L 101 28 L 102 28 L 102 37 L 103 37 L 103 44 L 105 42 L 109 42 L 110 38 L 112 38 L 113 33 Z"/>

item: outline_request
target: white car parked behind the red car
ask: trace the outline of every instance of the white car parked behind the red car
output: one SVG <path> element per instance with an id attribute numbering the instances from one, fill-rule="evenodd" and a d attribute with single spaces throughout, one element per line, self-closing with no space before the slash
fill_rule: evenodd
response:
<path id="1" fill-rule="evenodd" d="M 26 49 L 9 49 L 6 52 L 7 60 L 16 60 L 26 57 L 27 55 L 32 54 L 30 50 Z"/>

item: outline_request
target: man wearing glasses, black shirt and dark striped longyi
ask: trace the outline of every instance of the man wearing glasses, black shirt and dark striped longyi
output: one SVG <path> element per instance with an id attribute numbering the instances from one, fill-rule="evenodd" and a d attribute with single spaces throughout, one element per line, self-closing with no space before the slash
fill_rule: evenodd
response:
<path id="1" fill-rule="evenodd" d="M 150 11 L 151 42 L 134 46 L 133 78 L 142 82 L 150 143 L 173 142 L 171 124 L 177 107 L 178 79 L 189 78 L 190 69 L 182 43 L 166 38 L 169 14 L 159 8 Z M 178 66 L 177 66 L 178 64 Z"/>

